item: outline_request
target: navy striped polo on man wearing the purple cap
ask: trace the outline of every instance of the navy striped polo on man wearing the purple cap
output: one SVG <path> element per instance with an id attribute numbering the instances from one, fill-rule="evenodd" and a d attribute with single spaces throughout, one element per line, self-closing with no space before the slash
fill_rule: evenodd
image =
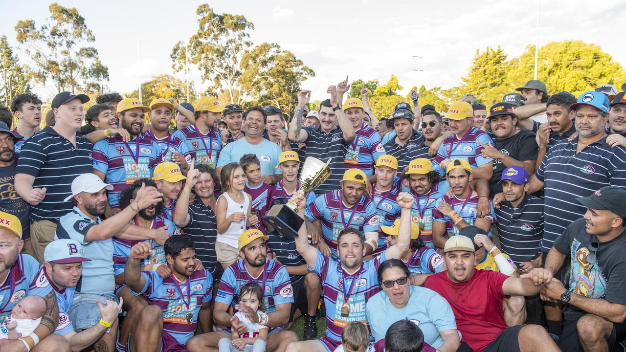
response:
<path id="1" fill-rule="evenodd" d="M 501 202 L 495 209 L 498 218 L 498 235 L 503 252 L 511 257 L 516 266 L 533 261 L 541 254 L 543 238 L 543 202 L 533 195 L 513 208 L 509 202 Z M 521 268 L 520 268 L 521 269 Z"/>

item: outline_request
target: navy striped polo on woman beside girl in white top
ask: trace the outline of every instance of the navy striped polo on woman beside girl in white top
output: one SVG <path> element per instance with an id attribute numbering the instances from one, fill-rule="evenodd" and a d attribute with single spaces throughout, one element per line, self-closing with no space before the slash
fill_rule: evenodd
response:
<path id="1" fill-rule="evenodd" d="M 193 204 L 189 205 L 187 214 L 191 219 L 189 224 L 183 227 L 183 232 L 192 237 L 196 258 L 211 273 L 213 279 L 219 279 L 222 276 L 222 264 L 217 261 L 215 253 L 215 239 L 217 239 L 215 213 L 200 198 L 195 197 Z"/>

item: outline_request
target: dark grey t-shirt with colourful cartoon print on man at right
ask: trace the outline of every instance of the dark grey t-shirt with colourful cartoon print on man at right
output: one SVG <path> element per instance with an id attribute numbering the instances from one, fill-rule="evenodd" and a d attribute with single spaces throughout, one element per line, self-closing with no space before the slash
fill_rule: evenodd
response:
<path id="1" fill-rule="evenodd" d="M 587 261 L 593 248 L 590 242 L 598 243 L 597 260 Z M 585 219 L 572 222 L 565 232 L 554 241 L 554 247 L 563 254 L 570 254 L 569 289 L 580 296 L 604 299 L 610 303 L 626 304 L 626 230 L 608 242 L 598 242 L 596 236 L 587 234 Z M 571 304 L 565 304 L 563 315 L 575 320 L 587 314 Z"/>

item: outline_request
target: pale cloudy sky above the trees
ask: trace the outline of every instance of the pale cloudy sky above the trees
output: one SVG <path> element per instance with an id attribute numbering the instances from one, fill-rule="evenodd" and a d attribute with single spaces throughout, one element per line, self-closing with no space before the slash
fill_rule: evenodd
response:
<path id="1" fill-rule="evenodd" d="M 109 68 L 111 91 L 135 90 L 153 75 L 171 74 L 172 46 L 197 31 L 198 1 L 76 1 L 75 7 L 93 31 L 100 58 Z M 18 46 L 14 26 L 19 19 L 41 24 L 49 1 L 4 1 L 0 33 Z M 316 72 L 305 81 L 312 100 L 324 98 L 326 87 L 349 75 L 350 80 L 398 76 L 403 93 L 416 85 L 458 85 L 477 48 L 500 45 L 509 58 L 536 40 L 538 0 L 528 1 L 217 1 L 217 13 L 242 14 L 254 23 L 251 39 L 277 43 Z M 626 66 L 626 6 L 623 1 L 541 0 L 540 38 L 580 39 L 600 46 Z M 140 40 L 140 61 L 136 41 Z M 413 56 L 422 56 L 418 61 Z M 24 54 L 21 54 L 25 58 Z M 176 75 L 184 79 L 183 73 Z M 530 77 L 529 79 L 531 79 Z M 198 88 L 198 71 L 190 72 Z M 50 85 L 50 83 L 48 83 Z M 43 98 L 56 93 L 38 85 Z"/>

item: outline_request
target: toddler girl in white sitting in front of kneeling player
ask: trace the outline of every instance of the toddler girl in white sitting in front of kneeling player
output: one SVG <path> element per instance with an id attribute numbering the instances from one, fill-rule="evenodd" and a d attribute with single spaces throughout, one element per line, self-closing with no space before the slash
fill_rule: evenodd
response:
<path id="1" fill-rule="evenodd" d="M 239 303 L 245 304 L 252 308 L 253 311 L 265 312 L 265 304 L 263 303 L 263 292 L 256 282 L 248 282 L 239 289 Z M 265 339 L 267 339 L 267 326 L 259 323 L 252 323 L 246 318 L 244 313 L 235 313 L 235 318 L 245 325 L 247 331 L 241 336 L 237 335 L 237 331 L 232 331 L 232 337 L 221 338 L 218 347 L 220 352 L 264 352 Z"/>

